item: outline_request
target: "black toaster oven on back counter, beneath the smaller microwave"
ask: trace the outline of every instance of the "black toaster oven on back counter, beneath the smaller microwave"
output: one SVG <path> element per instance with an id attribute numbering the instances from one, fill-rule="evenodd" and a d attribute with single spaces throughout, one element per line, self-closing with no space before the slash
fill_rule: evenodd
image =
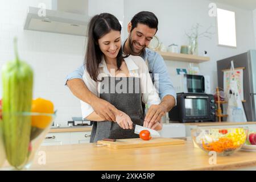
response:
<path id="1" fill-rule="evenodd" d="M 177 93 L 177 105 L 168 113 L 171 122 L 216 121 L 214 96 L 199 93 Z"/>

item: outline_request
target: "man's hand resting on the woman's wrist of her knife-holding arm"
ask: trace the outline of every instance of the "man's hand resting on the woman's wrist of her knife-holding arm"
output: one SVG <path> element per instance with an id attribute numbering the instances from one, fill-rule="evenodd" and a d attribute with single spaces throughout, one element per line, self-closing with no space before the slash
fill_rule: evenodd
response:
<path id="1" fill-rule="evenodd" d="M 122 116 L 121 111 L 119 111 L 115 106 L 110 104 L 108 101 L 97 98 L 92 102 L 93 110 L 96 114 L 100 115 L 101 118 L 105 118 L 106 121 L 115 121 L 117 115 Z"/>

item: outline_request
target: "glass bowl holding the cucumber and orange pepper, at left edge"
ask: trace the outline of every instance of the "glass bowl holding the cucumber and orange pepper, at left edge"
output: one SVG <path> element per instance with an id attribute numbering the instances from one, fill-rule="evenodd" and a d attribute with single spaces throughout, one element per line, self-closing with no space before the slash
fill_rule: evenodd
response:
<path id="1" fill-rule="evenodd" d="M 0 156 L 0 162 L 5 158 L 7 162 L 1 169 L 28 169 L 55 116 L 48 113 L 2 113 L 0 152 L 4 150 L 5 154 Z"/>

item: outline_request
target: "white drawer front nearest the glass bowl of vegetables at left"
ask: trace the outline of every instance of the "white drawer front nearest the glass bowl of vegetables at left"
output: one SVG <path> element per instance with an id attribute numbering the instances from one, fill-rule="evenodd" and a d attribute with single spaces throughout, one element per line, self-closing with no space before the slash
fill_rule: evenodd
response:
<path id="1" fill-rule="evenodd" d="M 70 144 L 70 133 L 48 133 L 42 146 Z"/>

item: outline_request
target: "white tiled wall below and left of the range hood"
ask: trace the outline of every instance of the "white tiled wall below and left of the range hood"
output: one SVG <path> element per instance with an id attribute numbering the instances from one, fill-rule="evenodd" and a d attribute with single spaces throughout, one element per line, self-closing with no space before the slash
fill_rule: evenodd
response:
<path id="1" fill-rule="evenodd" d="M 23 30 L 27 7 L 36 2 L 0 1 L 0 68 L 14 59 L 13 38 L 17 36 L 20 59 L 34 69 L 34 98 L 51 100 L 57 109 L 55 122 L 63 126 L 71 117 L 81 116 L 80 102 L 64 82 L 68 73 L 82 65 L 85 37 Z M 0 84 L 1 98 L 2 80 Z"/>

